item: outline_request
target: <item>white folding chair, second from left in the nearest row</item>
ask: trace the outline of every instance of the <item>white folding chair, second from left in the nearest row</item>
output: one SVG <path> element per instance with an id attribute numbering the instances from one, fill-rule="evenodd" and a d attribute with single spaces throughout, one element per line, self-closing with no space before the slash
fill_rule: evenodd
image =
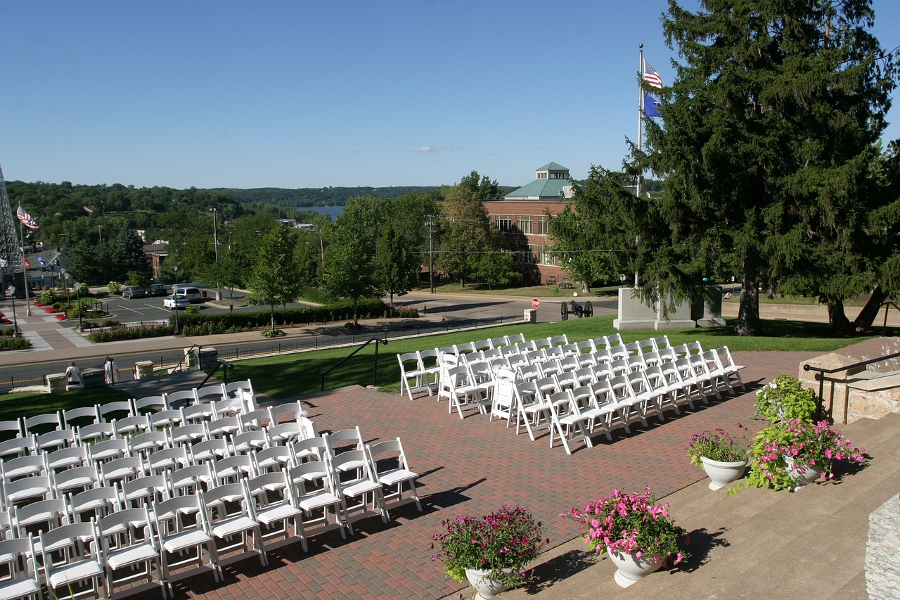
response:
<path id="1" fill-rule="evenodd" d="M 49 532 L 40 532 L 47 589 L 54 598 L 72 597 L 81 584 L 102 597 L 104 569 L 97 541 L 96 523 L 69 523 Z M 61 595 L 62 590 L 69 595 Z"/>

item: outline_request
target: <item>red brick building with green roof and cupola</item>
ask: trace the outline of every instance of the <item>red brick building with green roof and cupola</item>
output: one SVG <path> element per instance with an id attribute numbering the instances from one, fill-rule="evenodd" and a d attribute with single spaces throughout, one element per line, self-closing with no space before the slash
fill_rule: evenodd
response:
<path id="1" fill-rule="evenodd" d="M 559 259 L 547 253 L 552 243 L 547 236 L 550 215 L 562 211 L 570 197 L 569 169 L 551 162 L 536 170 L 534 181 L 501 200 L 482 200 L 491 223 L 512 237 L 519 249 L 517 261 L 526 278 L 523 283 L 573 283 Z"/>

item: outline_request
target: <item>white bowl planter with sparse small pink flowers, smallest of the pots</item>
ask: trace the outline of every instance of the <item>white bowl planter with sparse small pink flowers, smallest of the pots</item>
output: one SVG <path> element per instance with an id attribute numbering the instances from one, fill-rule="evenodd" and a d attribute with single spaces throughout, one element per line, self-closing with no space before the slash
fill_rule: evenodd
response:
<path id="1" fill-rule="evenodd" d="M 743 477 L 750 443 L 747 441 L 747 429 L 741 423 L 737 426 L 741 430 L 740 435 L 732 435 L 721 427 L 695 432 L 685 447 L 691 464 L 700 465 L 707 471 L 709 489 L 725 487 Z"/>

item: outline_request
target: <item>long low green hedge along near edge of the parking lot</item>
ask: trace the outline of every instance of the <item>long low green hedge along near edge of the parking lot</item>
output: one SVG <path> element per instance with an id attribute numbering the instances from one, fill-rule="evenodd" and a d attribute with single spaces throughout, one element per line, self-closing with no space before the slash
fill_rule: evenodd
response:
<path id="1" fill-rule="evenodd" d="M 359 301 L 359 317 L 374 319 L 388 313 L 389 307 L 381 299 L 367 298 Z M 303 308 L 283 308 L 275 311 L 275 324 L 309 325 L 329 321 L 353 319 L 353 301 L 341 302 L 325 306 L 305 306 Z M 220 314 L 184 314 L 178 317 L 181 332 L 184 335 L 203 335 L 208 333 L 246 332 L 269 327 L 272 314 L 268 310 L 241 313 Z M 169 317 L 169 324 L 175 325 L 175 317 Z"/>

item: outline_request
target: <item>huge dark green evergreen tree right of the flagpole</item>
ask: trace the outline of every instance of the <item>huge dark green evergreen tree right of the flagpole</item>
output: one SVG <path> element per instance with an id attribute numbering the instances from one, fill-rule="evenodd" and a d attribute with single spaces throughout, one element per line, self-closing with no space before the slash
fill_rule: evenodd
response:
<path id="1" fill-rule="evenodd" d="M 666 175 L 650 293 L 692 295 L 721 262 L 743 283 L 737 331 L 759 335 L 760 284 L 829 302 L 866 286 L 861 215 L 885 201 L 869 166 L 896 86 L 873 27 L 868 0 L 670 4 L 678 78 L 635 151 Z"/>

